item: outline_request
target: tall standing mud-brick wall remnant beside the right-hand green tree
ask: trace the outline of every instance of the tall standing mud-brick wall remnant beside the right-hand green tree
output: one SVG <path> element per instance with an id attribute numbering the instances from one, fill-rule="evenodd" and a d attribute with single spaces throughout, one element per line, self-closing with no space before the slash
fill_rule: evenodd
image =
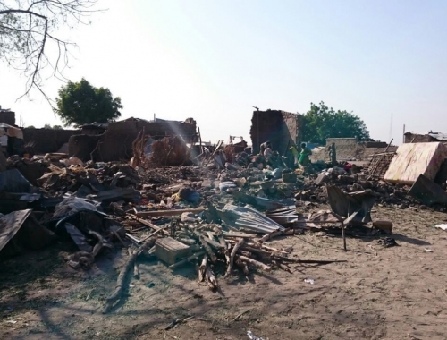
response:
<path id="1" fill-rule="evenodd" d="M 254 111 L 250 129 L 253 152 L 258 153 L 260 144 L 270 140 L 272 149 L 283 155 L 292 145 L 299 145 L 302 122 L 302 115 L 281 110 Z"/>

